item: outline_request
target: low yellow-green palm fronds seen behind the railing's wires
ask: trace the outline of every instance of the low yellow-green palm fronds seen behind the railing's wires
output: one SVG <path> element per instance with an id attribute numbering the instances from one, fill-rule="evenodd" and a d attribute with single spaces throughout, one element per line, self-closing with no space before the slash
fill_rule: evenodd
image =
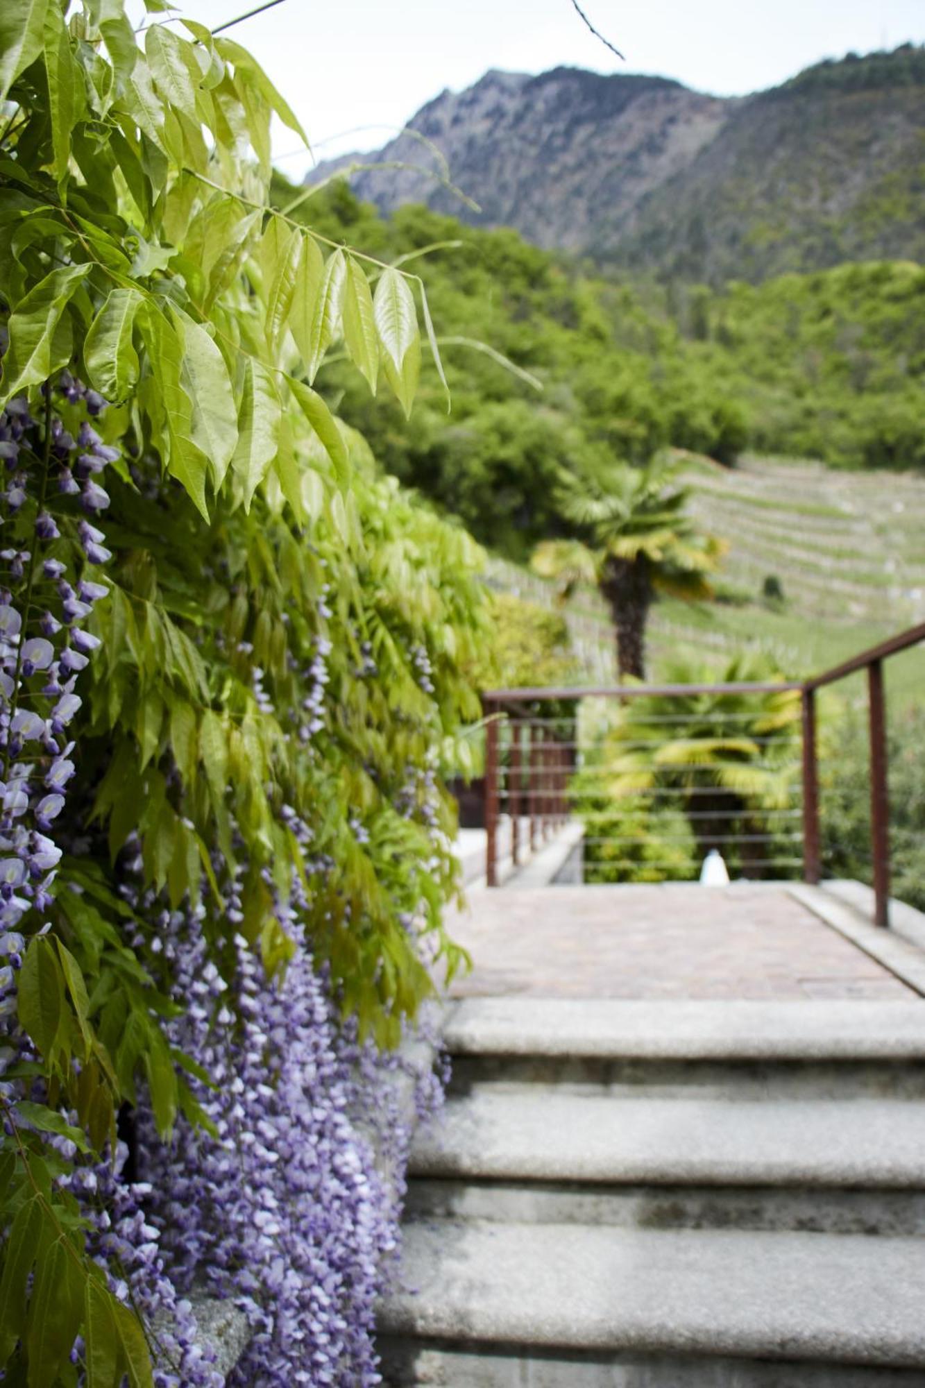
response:
<path id="1" fill-rule="evenodd" d="M 738 655 L 721 675 L 683 661 L 667 670 L 671 684 L 778 679 L 761 655 Z M 799 723 L 799 690 L 628 698 L 600 752 L 601 790 L 615 806 L 681 808 L 699 859 L 717 848 L 760 877 L 781 812 L 792 809 Z"/>

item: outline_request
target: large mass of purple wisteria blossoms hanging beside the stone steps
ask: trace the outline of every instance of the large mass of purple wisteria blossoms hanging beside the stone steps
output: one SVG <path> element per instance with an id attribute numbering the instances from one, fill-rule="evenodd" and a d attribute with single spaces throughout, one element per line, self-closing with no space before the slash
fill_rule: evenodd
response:
<path id="1" fill-rule="evenodd" d="M 192 998 L 174 1040 L 217 1083 L 197 1098 L 218 1137 L 181 1120 L 167 1148 L 146 1126 L 149 1217 L 172 1277 L 246 1312 L 253 1338 L 232 1384 L 376 1384 L 374 1305 L 397 1205 L 351 1108 L 362 1095 L 383 1116 L 376 1052 L 339 1033 L 301 933 L 282 981 L 238 936 L 229 983 L 207 962 L 199 913 L 164 913 L 158 936 Z M 401 1170 L 408 1117 L 389 1117 L 386 1165 Z"/>

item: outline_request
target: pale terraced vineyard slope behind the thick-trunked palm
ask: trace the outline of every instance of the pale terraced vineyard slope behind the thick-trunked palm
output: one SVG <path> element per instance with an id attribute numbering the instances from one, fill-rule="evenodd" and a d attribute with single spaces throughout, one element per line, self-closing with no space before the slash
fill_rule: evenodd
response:
<path id="1" fill-rule="evenodd" d="M 692 458 L 689 480 L 699 519 L 729 545 L 721 601 L 657 604 L 649 638 L 656 679 L 671 657 L 715 657 L 721 666 L 743 647 L 804 675 L 925 620 L 925 477 L 767 458 L 726 469 Z M 782 600 L 764 597 L 771 577 Z M 493 561 L 492 582 L 554 601 L 551 584 L 514 565 Z M 589 675 L 612 673 L 597 594 L 578 594 L 567 613 Z M 921 650 L 890 662 L 890 687 L 903 702 L 921 697 Z"/>

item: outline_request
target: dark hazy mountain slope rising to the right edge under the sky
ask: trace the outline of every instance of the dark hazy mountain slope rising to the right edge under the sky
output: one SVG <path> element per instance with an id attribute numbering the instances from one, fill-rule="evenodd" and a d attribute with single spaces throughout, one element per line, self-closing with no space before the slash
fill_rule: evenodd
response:
<path id="1" fill-rule="evenodd" d="M 925 260 L 925 50 L 822 62 L 736 105 L 611 246 L 661 276 L 761 280 Z"/>

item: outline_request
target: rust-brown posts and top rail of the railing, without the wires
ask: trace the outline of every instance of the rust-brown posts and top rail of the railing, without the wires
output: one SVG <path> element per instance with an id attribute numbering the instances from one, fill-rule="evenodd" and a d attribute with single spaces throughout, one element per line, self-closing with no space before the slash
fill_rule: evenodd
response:
<path id="1" fill-rule="evenodd" d="M 486 690 L 482 704 L 488 719 L 486 725 L 486 776 L 485 776 L 485 815 L 488 829 L 486 876 L 489 886 L 497 884 L 497 856 L 494 829 L 499 819 L 499 743 L 497 743 L 497 715 L 512 712 L 524 715 L 526 702 L 538 700 L 568 700 L 578 702 L 582 698 L 642 698 L 644 695 L 661 695 L 685 698 L 696 694 L 776 694 L 799 693 L 801 698 L 801 773 L 803 773 L 803 876 L 807 883 L 817 884 L 821 879 L 819 852 L 819 780 L 818 780 L 818 748 L 817 748 L 817 706 L 815 694 L 828 684 L 847 679 L 867 670 L 868 679 L 868 722 L 869 722 L 869 750 L 871 750 L 871 848 L 874 861 L 874 919 L 878 926 L 889 926 L 889 892 L 890 892 L 890 848 L 889 848 L 889 791 L 886 765 L 886 698 L 883 691 L 883 661 L 890 655 L 911 650 L 925 641 L 925 622 L 918 626 L 899 632 L 896 636 L 872 645 L 850 661 L 821 675 L 814 675 L 806 680 L 778 680 L 778 682 L 736 682 L 728 684 L 593 684 L 574 687 L 533 687 Z M 565 719 L 547 719 L 544 722 L 567 722 Z M 558 740 L 556 740 L 558 741 Z M 562 738 L 562 744 L 565 740 Z M 550 744 L 551 745 L 551 744 Z M 554 804 L 551 815 L 561 816 L 562 805 L 567 802 L 568 791 L 564 784 L 562 754 L 571 750 L 562 745 L 551 752 L 553 773 L 557 777 Z M 512 756 L 519 766 L 519 744 L 515 743 Z M 544 794 L 542 791 L 540 794 Z M 517 797 L 521 799 L 521 797 Z M 528 801 L 532 794 L 525 797 Z M 531 829 L 532 833 L 532 829 Z M 518 856 L 519 824 L 514 831 L 514 861 Z"/>

